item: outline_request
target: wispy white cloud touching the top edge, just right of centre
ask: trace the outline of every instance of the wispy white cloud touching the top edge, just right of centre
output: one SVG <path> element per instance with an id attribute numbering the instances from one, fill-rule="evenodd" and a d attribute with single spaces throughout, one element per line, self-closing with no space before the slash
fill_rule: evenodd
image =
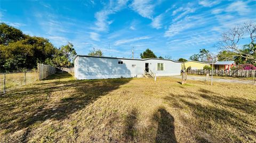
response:
<path id="1" fill-rule="evenodd" d="M 153 19 L 155 5 L 150 0 L 134 0 L 130 7 L 142 17 Z"/>

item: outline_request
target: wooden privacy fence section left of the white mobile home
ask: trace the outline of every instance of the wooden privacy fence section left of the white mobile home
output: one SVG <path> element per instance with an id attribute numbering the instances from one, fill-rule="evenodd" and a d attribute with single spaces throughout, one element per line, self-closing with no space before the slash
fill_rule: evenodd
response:
<path id="1" fill-rule="evenodd" d="M 37 64 L 39 80 L 47 78 L 49 75 L 56 73 L 56 68 L 51 65 Z"/>

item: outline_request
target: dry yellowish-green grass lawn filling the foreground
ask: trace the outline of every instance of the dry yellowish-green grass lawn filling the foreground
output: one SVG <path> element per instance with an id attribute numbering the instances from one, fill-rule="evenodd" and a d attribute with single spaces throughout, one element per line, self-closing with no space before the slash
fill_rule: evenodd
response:
<path id="1" fill-rule="evenodd" d="M 62 78 L 0 97 L 0 142 L 255 142 L 255 86 Z"/>

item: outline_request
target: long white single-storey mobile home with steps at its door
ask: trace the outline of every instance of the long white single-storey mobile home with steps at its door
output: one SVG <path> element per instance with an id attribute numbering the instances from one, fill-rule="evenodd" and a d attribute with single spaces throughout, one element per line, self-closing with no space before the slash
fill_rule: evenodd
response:
<path id="1" fill-rule="evenodd" d="M 143 77 L 146 73 L 156 76 L 180 75 L 181 63 L 159 58 L 117 58 L 77 55 L 77 79 L 107 79 Z"/>

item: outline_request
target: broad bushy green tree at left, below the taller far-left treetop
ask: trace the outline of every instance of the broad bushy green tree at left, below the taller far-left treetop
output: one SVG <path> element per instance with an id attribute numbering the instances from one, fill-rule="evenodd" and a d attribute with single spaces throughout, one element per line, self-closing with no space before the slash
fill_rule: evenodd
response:
<path id="1" fill-rule="evenodd" d="M 41 37 L 27 37 L 9 45 L 1 45 L 0 48 L 0 64 L 7 71 L 36 68 L 37 63 L 44 63 L 47 58 L 52 59 L 57 50 Z"/>

